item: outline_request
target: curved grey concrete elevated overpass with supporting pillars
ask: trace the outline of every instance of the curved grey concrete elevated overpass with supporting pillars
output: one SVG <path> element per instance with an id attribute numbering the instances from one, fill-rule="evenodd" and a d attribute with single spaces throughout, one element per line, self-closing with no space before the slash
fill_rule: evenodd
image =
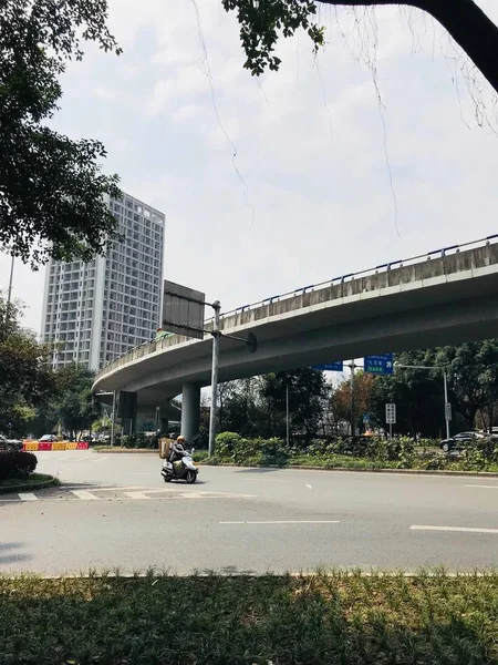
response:
<path id="1" fill-rule="evenodd" d="M 221 316 L 222 332 L 253 332 L 258 349 L 221 337 L 219 381 L 365 355 L 498 336 L 498 234 L 273 296 Z M 212 321 L 206 323 L 206 329 Z M 198 429 L 210 382 L 211 336 L 173 335 L 105 366 L 95 391 L 137 393 L 138 411 L 166 412 L 183 393 L 183 432 Z"/>

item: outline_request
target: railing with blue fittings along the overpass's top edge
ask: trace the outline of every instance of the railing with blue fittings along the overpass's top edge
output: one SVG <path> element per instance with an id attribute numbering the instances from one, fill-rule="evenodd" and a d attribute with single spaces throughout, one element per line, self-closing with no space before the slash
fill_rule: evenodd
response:
<path id="1" fill-rule="evenodd" d="M 418 254 L 416 256 L 412 256 L 411 258 L 404 258 L 398 260 L 392 260 L 386 264 L 381 264 L 373 268 L 366 268 L 365 270 L 360 270 L 359 273 L 349 273 L 346 275 L 340 275 L 339 277 L 333 277 L 332 279 L 326 279 L 325 282 L 320 282 L 318 284 L 310 284 L 308 286 L 302 286 L 300 288 L 293 289 L 291 291 L 287 291 L 284 294 L 280 294 L 277 296 L 271 296 L 270 298 L 264 298 L 263 300 L 258 300 L 256 303 L 250 303 L 249 305 L 243 305 L 242 307 L 237 307 L 236 309 L 230 309 L 228 311 L 224 311 L 221 314 L 221 320 L 228 318 L 230 316 L 236 316 L 237 314 L 241 314 L 243 311 L 250 311 L 251 309 L 258 309 L 259 307 L 264 307 L 266 305 L 271 305 L 272 303 L 280 303 L 282 300 L 287 300 L 290 298 L 294 298 L 297 296 L 301 296 L 303 294 L 314 291 L 322 288 L 328 288 L 330 286 L 336 286 L 339 284 L 344 284 L 345 282 L 352 282 L 354 279 L 359 279 L 362 277 L 369 277 L 370 275 L 375 275 L 380 272 L 388 272 L 394 268 L 402 268 L 404 266 L 411 266 L 415 264 L 423 263 L 424 260 L 430 260 L 434 258 L 444 258 L 445 256 L 449 256 L 452 254 L 458 254 L 465 249 L 473 249 L 477 247 L 483 247 L 489 245 L 494 242 L 498 241 L 498 234 L 489 235 L 485 238 L 480 238 L 478 241 L 471 241 L 470 243 L 464 243 L 461 245 L 450 245 L 448 247 L 442 247 L 439 249 L 434 249 L 433 252 L 428 252 L 426 254 Z M 212 318 L 209 318 L 205 321 L 205 326 L 207 329 L 212 325 Z M 205 337 L 207 337 L 206 335 Z M 123 365 L 127 365 L 128 362 L 133 362 L 134 360 L 138 360 L 144 356 L 148 356 L 149 354 L 154 354 L 158 350 L 176 346 L 183 341 L 186 341 L 187 338 L 181 335 L 172 335 L 168 337 L 163 337 L 162 339 L 157 339 L 154 341 L 146 341 L 137 347 L 134 347 L 123 356 L 111 360 L 107 365 L 98 371 L 101 374 L 107 374 L 110 371 L 114 371 L 118 367 Z"/>

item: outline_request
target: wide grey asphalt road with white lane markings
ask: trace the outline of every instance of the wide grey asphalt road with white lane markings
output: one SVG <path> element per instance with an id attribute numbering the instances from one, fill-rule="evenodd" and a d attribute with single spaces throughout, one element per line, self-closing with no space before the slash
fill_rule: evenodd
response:
<path id="1" fill-rule="evenodd" d="M 0 497 L 0 571 L 298 572 L 498 565 L 498 479 L 201 467 L 42 452 L 62 488 Z"/>

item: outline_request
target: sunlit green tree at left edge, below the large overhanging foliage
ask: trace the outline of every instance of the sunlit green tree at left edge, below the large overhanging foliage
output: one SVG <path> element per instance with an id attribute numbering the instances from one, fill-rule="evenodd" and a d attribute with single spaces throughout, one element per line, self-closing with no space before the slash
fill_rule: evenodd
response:
<path id="1" fill-rule="evenodd" d="M 52 346 L 25 335 L 20 316 L 20 305 L 0 297 L 0 432 L 17 436 L 54 388 Z"/>

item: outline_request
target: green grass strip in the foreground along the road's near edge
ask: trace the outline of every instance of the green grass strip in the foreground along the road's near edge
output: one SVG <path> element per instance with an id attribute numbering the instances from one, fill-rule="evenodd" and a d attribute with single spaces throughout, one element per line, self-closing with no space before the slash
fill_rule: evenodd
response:
<path id="1" fill-rule="evenodd" d="M 498 573 L 0 576 L 1 665 L 496 665 Z"/>

